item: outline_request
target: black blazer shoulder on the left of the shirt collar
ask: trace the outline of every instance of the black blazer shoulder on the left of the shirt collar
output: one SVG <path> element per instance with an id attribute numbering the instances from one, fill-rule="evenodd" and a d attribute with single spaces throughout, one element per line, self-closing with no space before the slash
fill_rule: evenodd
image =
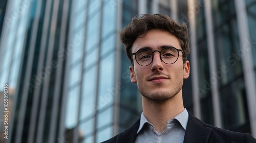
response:
<path id="1" fill-rule="evenodd" d="M 113 142 L 135 142 L 137 131 L 140 125 L 140 118 L 136 123 L 129 129 L 121 132 L 120 134 L 110 138 L 109 140 L 103 141 L 102 143 L 113 143 Z"/>

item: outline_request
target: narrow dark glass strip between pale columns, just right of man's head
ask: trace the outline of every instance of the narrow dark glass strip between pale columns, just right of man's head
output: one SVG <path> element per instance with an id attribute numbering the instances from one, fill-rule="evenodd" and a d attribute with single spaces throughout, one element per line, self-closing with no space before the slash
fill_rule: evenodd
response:
<path id="1" fill-rule="evenodd" d="M 196 3 L 198 7 L 196 17 L 196 32 L 198 46 L 198 65 L 199 65 L 199 96 L 201 103 L 202 120 L 207 124 L 214 124 L 214 115 L 212 110 L 211 88 L 209 83 L 209 59 L 207 49 L 207 34 L 206 34 L 206 18 L 205 18 L 205 3 L 199 1 Z"/>

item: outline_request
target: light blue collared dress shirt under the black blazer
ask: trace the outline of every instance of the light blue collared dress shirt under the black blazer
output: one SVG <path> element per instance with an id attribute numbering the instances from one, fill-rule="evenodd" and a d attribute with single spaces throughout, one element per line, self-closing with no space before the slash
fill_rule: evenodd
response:
<path id="1" fill-rule="evenodd" d="M 167 123 L 167 129 L 158 133 L 154 126 L 146 120 L 143 112 L 140 117 L 140 126 L 137 131 L 136 143 L 151 142 L 183 142 L 188 121 L 186 108 Z"/>

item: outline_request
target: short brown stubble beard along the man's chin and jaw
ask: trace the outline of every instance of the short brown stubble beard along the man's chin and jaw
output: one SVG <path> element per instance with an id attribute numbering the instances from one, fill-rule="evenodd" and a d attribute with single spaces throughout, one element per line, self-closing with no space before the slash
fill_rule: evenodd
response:
<path id="1" fill-rule="evenodd" d="M 176 87 L 174 87 L 173 89 L 170 88 L 169 90 L 166 90 L 166 91 L 150 92 L 146 89 L 143 89 L 143 88 L 141 89 L 139 86 L 138 88 L 141 95 L 147 98 L 148 100 L 151 100 L 154 102 L 165 102 L 174 98 L 180 92 L 180 90 L 182 89 L 182 86 L 183 86 L 183 81 L 181 80 Z"/>

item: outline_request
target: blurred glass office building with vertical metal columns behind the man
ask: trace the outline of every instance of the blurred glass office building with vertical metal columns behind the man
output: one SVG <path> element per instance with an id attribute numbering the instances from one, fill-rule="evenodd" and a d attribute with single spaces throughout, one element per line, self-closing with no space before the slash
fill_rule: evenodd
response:
<path id="1" fill-rule="evenodd" d="M 143 13 L 188 26 L 185 108 L 256 137 L 255 0 L 0 2 L 0 142 L 101 142 L 133 125 L 141 96 L 119 31 Z"/>

